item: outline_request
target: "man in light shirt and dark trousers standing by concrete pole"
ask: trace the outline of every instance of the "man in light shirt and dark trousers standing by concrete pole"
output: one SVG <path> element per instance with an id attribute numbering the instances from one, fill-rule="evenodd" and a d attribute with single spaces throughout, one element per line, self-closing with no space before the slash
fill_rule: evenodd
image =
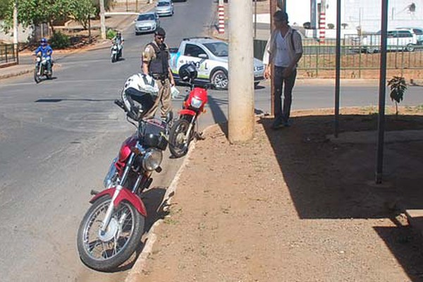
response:
<path id="1" fill-rule="evenodd" d="M 271 64 L 274 65 L 274 111 L 275 118 L 271 128 L 290 126 L 290 106 L 293 87 L 297 77 L 297 63 L 302 56 L 301 35 L 288 25 L 288 14 L 283 11 L 274 13 L 275 29 L 266 44 L 263 63 L 266 66 L 264 78 L 270 78 Z M 285 87 L 283 85 L 285 84 Z M 282 107 L 283 88 L 283 107 Z"/>

